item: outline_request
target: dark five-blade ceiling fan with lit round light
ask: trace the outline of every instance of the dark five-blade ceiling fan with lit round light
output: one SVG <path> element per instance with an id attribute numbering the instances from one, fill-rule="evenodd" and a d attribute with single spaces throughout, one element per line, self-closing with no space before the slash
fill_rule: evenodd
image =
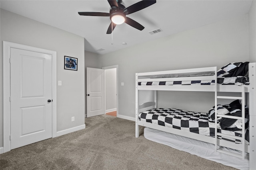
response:
<path id="1" fill-rule="evenodd" d="M 107 34 L 112 33 L 116 25 L 127 23 L 128 25 L 131 25 L 132 27 L 142 30 L 145 27 L 140 25 L 140 23 L 132 20 L 131 18 L 128 18 L 126 15 L 132 14 L 134 12 L 137 12 L 139 10 L 142 10 L 144 8 L 147 8 L 150 5 L 153 5 L 156 3 L 156 0 L 142 0 L 140 2 L 137 2 L 127 8 L 125 8 L 124 5 L 122 5 L 122 0 L 108 0 L 108 3 L 110 4 L 110 11 L 109 13 L 106 12 L 78 12 L 80 16 L 108 16 L 110 17 L 111 23 L 108 27 Z"/>

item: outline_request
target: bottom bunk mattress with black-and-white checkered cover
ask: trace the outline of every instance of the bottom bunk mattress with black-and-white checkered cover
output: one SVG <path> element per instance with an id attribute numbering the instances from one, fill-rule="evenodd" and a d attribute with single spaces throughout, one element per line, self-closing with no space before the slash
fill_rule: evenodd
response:
<path id="1" fill-rule="evenodd" d="M 215 136 L 215 123 L 208 121 L 208 113 L 192 112 L 180 109 L 163 109 L 155 108 L 150 109 L 139 114 L 139 120 L 144 122 L 153 123 L 156 125 L 166 126 L 170 128 L 180 129 L 183 131 L 190 131 L 192 133 L 198 133 L 205 136 Z M 219 123 L 217 125 L 217 131 L 226 135 L 242 136 L 242 131 L 228 131 L 221 129 Z M 245 132 L 246 145 L 249 144 L 248 129 Z M 238 139 L 232 139 L 228 137 L 220 137 L 234 143 L 242 143 Z"/>

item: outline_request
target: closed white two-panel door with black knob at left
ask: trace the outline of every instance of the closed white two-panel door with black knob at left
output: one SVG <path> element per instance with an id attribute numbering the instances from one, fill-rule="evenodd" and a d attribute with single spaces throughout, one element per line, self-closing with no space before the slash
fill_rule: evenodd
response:
<path id="1" fill-rule="evenodd" d="M 52 137 L 52 55 L 11 48 L 11 149 Z"/>

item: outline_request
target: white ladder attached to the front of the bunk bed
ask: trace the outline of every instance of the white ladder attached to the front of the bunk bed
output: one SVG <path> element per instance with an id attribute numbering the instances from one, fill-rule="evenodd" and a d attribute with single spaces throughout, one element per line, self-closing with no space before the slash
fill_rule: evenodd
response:
<path id="1" fill-rule="evenodd" d="M 225 153 L 231 156 L 236 156 L 238 158 L 242 158 L 242 160 L 244 160 L 244 156 L 245 156 L 245 90 L 244 90 L 244 86 L 242 86 L 242 92 L 241 92 L 241 97 L 233 97 L 233 96 L 216 96 L 216 100 L 217 99 L 234 99 L 234 100 L 241 100 L 242 101 L 242 117 L 238 117 L 238 116 L 230 116 L 230 115 L 220 115 L 217 113 L 215 114 L 215 151 L 216 152 L 221 152 L 221 153 Z M 215 101 L 216 102 L 216 101 Z M 215 103 L 215 109 L 217 108 L 217 104 Z M 242 137 L 238 137 L 238 136 L 231 136 L 231 135 L 226 135 L 226 134 L 222 134 L 222 133 L 218 133 L 217 132 L 217 117 L 226 117 L 226 118 L 230 118 L 230 119 L 238 119 L 238 120 L 242 120 Z M 218 138 L 217 136 L 221 136 L 221 137 L 228 137 L 228 138 L 232 138 L 232 139 L 238 139 L 240 141 L 242 141 L 242 153 L 241 154 L 235 154 L 233 152 L 228 152 L 226 150 L 221 150 L 221 149 L 217 149 L 217 145 L 218 145 Z"/>

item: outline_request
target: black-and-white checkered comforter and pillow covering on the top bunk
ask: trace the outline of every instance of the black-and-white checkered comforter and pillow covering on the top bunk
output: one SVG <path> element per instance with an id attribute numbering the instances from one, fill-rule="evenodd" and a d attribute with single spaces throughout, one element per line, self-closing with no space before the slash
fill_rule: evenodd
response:
<path id="1" fill-rule="evenodd" d="M 217 72 L 218 85 L 248 85 L 248 64 L 245 63 L 229 63 L 223 66 Z M 152 78 L 153 80 L 153 78 Z M 172 81 L 172 82 L 138 82 L 139 86 L 150 85 L 214 85 L 215 80 L 198 80 L 198 81 Z"/>

